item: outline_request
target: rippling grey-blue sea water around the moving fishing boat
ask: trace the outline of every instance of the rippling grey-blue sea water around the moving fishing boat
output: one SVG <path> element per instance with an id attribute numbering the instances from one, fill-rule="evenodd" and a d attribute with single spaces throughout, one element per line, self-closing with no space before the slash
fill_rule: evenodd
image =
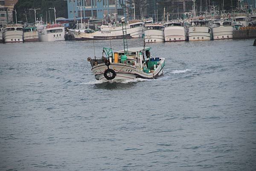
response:
<path id="1" fill-rule="evenodd" d="M 92 41 L 0 44 L 0 171 L 255 171 L 252 44 L 148 44 L 164 75 L 118 83 L 95 80 Z"/>

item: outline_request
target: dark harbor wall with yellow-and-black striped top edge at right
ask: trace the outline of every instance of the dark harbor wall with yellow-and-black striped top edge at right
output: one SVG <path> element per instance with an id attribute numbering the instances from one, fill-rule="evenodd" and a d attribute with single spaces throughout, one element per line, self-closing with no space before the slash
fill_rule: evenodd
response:
<path id="1" fill-rule="evenodd" d="M 233 30 L 233 39 L 256 38 L 256 27 L 244 27 L 243 29 Z"/>

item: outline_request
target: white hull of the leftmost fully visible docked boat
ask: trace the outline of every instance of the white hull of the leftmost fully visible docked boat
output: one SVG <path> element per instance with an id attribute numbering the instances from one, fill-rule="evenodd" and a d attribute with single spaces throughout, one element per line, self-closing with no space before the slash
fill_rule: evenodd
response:
<path id="1" fill-rule="evenodd" d="M 23 42 L 23 31 L 13 30 L 3 32 L 3 41 L 5 43 Z"/>

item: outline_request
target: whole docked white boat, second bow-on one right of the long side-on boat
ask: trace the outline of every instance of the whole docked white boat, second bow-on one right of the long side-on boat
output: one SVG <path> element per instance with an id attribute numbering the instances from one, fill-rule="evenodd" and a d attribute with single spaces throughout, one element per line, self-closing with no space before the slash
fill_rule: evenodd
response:
<path id="1" fill-rule="evenodd" d="M 165 41 L 185 41 L 185 29 L 181 22 L 167 22 L 164 24 Z"/>

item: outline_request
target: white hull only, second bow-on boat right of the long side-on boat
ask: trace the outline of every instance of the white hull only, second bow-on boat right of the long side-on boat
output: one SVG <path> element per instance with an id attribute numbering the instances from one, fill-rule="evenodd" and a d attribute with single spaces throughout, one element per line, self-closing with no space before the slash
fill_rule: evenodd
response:
<path id="1" fill-rule="evenodd" d="M 182 26 L 170 26 L 164 29 L 165 41 L 185 41 L 185 30 Z"/>

